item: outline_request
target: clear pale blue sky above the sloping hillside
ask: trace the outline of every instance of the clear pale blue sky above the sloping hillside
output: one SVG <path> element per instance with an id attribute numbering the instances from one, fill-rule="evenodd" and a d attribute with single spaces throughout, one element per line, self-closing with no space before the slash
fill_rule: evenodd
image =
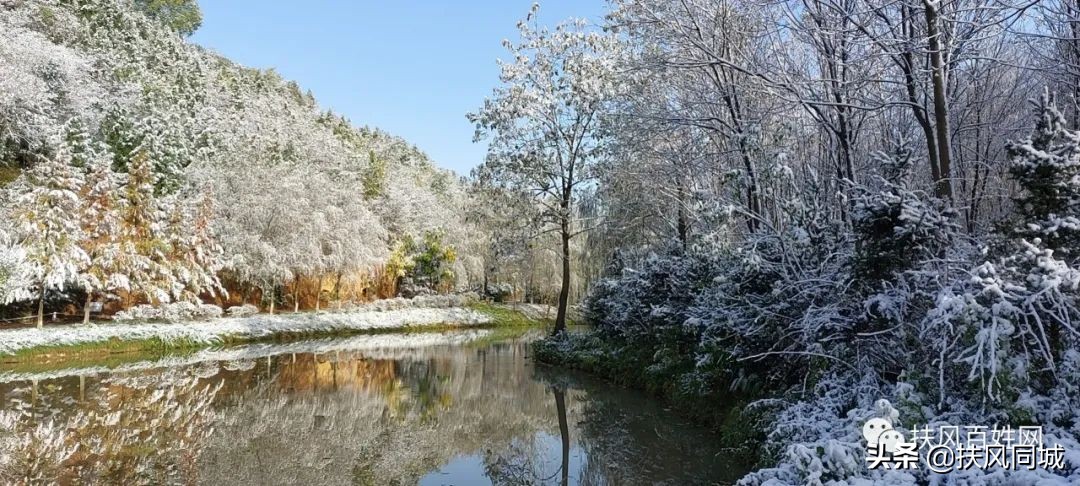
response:
<path id="1" fill-rule="evenodd" d="M 532 0 L 202 0 L 191 41 L 258 68 L 275 68 L 357 125 L 416 144 L 467 174 L 486 147 L 465 113 L 498 83 L 502 39 Z M 603 0 L 540 2 L 540 21 L 599 22 Z"/>

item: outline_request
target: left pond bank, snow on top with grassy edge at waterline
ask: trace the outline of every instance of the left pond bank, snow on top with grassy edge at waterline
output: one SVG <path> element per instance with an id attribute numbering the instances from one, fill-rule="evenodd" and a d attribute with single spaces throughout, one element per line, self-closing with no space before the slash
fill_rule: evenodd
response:
<path id="1" fill-rule="evenodd" d="M 177 353 L 258 341 L 450 328 L 541 325 L 513 308 L 366 308 L 351 312 L 257 314 L 179 323 L 89 324 L 0 330 L 0 364 L 108 360 L 126 353 Z"/>

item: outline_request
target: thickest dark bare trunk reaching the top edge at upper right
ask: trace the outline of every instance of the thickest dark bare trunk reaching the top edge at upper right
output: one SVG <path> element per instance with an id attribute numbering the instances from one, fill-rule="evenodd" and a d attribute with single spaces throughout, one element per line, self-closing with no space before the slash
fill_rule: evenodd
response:
<path id="1" fill-rule="evenodd" d="M 930 48 L 930 69 L 934 85 L 934 130 L 937 138 L 937 180 L 934 193 L 953 202 L 951 144 L 948 130 L 948 99 L 945 95 L 945 63 L 942 57 L 941 32 L 937 26 L 937 4 L 923 0 L 927 16 L 927 41 Z"/>

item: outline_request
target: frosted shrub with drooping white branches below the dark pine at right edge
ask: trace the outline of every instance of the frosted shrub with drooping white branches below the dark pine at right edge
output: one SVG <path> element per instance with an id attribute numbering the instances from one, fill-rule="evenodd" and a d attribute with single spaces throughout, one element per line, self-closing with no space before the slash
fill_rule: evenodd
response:
<path id="1" fill-rule="evenodd" d="M 1054 369 L 1077 346 L 1071 323 L 1080 319 L 1080 269 L 1038 240 L 1016 245 L 1015 253 L 978 264 L 969 279 L 942 288 L 926 314 L 924 337 L 946 357 L 935 366 L 943 400 L 966 383 L 978 391 L 972 399 L 993 402 L 1061 383 Z"/>

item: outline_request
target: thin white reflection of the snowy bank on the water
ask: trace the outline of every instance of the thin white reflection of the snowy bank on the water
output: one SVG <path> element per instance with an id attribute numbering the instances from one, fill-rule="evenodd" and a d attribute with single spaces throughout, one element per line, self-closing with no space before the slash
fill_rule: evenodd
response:
<path id="1" fill-rule="evenodd" d="M 102 373 L 131 373 L 145 369 L 173 368 L 208 362 L 244 362 L 291 353 L 325 354 L 336 351 L 364 351 L 365 353 L 376 352 L 380 357 L 404 356 L 409 350 L 431 346 L 461 345 L 490 334 L 491 332 L 488 329 L 468 329 L 444 333 L 363 335 L 349 338 L 312 339 L 286 343 L 251 343 L 229 348 L 203 349 L 184 356 L 125 363 L 116 367 L 86 366 L 43 373 L 0 373 L 0 383 L 93 376 Z"/>

